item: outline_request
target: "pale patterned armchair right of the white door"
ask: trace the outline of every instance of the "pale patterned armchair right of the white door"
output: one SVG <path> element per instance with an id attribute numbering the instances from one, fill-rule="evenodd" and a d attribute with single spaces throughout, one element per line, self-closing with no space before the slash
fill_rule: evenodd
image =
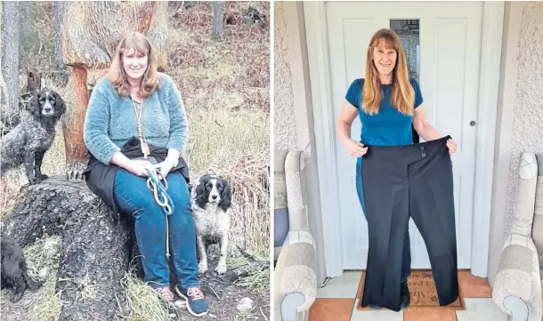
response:
<path id="1" fill-rule="evenodd" d="M 492 299 L 512 321 L 541 321 L 543 286 L 543 154 L 524 152 L 515 219 L 507 236 Z"/>

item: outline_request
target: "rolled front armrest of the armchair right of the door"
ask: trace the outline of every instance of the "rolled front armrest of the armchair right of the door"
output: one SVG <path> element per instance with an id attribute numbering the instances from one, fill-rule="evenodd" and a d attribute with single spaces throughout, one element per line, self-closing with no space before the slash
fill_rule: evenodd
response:
<path id="1" fill-rule="evenodd" d="M 492 300 L 513 321 L 541 320 L 538 254 L 531 237 L 512 234 L 503 247 Z"/>

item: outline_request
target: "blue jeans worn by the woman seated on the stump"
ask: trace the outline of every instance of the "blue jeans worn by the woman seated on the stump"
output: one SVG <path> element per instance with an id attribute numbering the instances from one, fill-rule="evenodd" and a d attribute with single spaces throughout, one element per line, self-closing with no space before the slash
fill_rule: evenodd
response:
<path id="1" fill-rule="evenodd" d="M 134 229 L 142 255 L 145 281 L 153 288 L 170 285 L 166 260 L 166 216 L 155 202 L 147 179 L 119 168 L 115 176 L 115 197 L 120 210 L 134 216 Z M 187 183 L 181 173 L 167 175 L 168 194 L 174 203 L 170 214 L 170 261 L 180 286 L 199 286 L 196 231 L 190 211 Z"/>

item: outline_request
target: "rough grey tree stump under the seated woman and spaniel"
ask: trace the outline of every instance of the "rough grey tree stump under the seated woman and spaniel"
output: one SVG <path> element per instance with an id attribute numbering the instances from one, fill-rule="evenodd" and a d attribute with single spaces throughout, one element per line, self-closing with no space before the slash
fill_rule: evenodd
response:
<path id="1" fill-rule="evenodd" d="M 23 190 L 4 229 L 22 247 L 37 237 L 62 238 L 55 290 L 59 321 L 120 320 L 126 296 L 119 280 L 129 267 L 134 233 L 87 188 L 85 181 L 51 177 Z"/>

